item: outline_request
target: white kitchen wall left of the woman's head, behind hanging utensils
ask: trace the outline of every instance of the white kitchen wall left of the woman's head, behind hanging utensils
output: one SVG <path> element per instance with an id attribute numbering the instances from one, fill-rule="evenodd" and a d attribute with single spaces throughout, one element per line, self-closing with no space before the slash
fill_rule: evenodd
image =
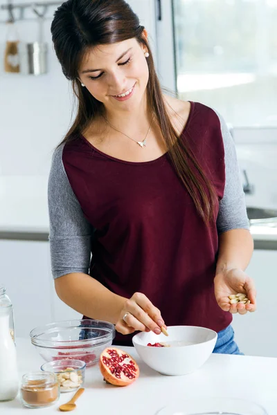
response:
<path id="1" fill-rule="evenodd" d="M 28 1 L 24 0 L 24 3 Z M 1 0 L 1 3 L 3 0 Z M 48 17 L 53 12 L 49 10 Z M 1 12 L 1 20 L 3 19 Z M 26 17 L 33 17 L 31 12 Z M 0 66 L 0 172 L 2 175 L 46 175 L 51 151 L 69 127 L 71 102 L 69 82 L 51 46 L 51 19 L 44 23 L 44 39 L 48 42 L 49 71 L 38 77 L 8 74 Z M 37 39 L 37 21 L 17 22 L 19 39 Z M 0 25 L 1 56 L 6 25 Z"/>

